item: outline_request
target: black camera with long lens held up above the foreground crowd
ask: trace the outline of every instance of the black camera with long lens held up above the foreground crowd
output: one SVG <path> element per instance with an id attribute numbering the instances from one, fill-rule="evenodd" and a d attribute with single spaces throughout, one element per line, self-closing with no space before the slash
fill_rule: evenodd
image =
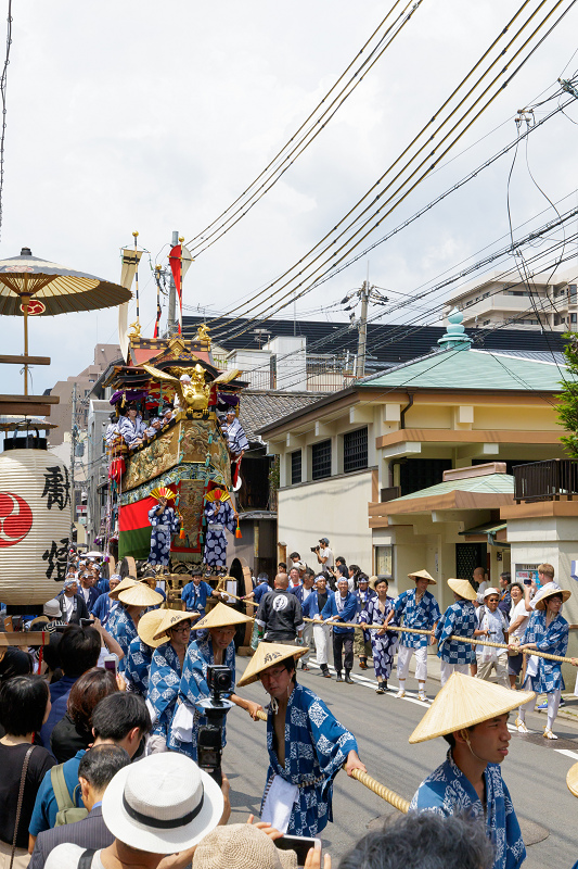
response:
<path id="1" fill-rule="evenodd" d="M 233 671 L 220 664 L 207 666 L 207 685 L 209 696 L 195 703 L 196 708 L 206 717 L 206 723 L 198 728 L 197 763 L 215 779 L 219 788 L 222 784 L 221 756 L 222 729 L 224 718 L 233 704 L 223 700 L 222 694 L 230 694 L 233 688 Z"/>

